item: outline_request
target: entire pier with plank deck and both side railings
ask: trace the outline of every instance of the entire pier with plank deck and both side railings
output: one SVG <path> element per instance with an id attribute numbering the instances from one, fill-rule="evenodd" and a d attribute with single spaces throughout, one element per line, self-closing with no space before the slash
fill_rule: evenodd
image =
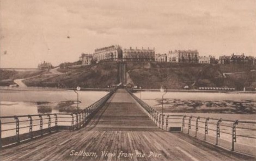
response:
<path id="1" fill-rule="evenodd" d="M 162 115 L 126 89 L 109 92 L 79 113 L 0 119 L 2 161 L 255 160 L 253 147 L 236 145 L 237 125 L 254 126 L 253 121 Z M 224 122 L 230 125 L 229 142 L 221 139 Z M 209 135 L 213 127 L 216 137 Z"/>

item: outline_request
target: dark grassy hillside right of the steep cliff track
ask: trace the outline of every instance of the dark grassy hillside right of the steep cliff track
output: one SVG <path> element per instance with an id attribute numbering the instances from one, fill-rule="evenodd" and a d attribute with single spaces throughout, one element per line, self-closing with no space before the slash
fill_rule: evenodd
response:
<path id="1" fill-rule="evenodd" d="M 192 65 L 160 62 L 127 62 L 127 72 L 135 85 L 143 88 L 183 89 L 188 85 L 197 87 L 237 87 L 251 86 L 256 80 L 255 72 L 249 72 L 256 66 L 248 65 Z M 223 73 L 245 72 L 241 76 Z"/>

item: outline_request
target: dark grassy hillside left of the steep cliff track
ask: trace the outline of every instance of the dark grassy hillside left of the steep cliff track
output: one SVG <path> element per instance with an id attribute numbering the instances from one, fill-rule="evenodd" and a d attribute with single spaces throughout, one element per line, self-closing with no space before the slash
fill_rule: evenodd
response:
<path id="1" fill-rule="evenodd" d="M 94 66 L 66 69 L 62 75 L 42 75 L 24 82 L 28 86 L 106 88 L 112 83 L 118 83 L 117 71 L 117 62 L 102 62 Z"/>

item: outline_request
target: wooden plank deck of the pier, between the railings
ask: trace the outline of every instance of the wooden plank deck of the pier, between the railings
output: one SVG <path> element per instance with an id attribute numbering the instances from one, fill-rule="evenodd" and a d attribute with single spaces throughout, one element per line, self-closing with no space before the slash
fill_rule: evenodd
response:
<path id="1" fill-rule="evenodd" d="M 160 130 L 122 89 L 87 127 L 54 133 L 0 152 L 2 161 L 255 159 L 223 151 L 186 134 Z"/>

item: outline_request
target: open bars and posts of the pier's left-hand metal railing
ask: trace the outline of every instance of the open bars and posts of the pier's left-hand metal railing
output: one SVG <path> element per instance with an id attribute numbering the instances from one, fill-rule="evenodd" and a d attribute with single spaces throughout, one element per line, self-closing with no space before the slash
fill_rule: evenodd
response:
<path id="1" fill-rule="evenodd" d="M 92 119 L 93 115 L 96 113 L 99 108 L 103 107 L 105 102 L 112 96 L 112 94 L 115 92 L 115 89 L 110 91 L 107 95 L 103 96 L 101 99 L 94 102 L 92 105 L 84 108 L 80 112 L 74 112 L 74 113 L 51 113 L 51 114 L 31 114 L 31 115 L 14 115 L 14 116 L 4 116 L 0 117 L 0 149 L 3 146 L 8 146 L 10 144 L 17 144 L 21 141 L 33 139 L 35 137 L 44 136 L 45 134 L 50 134 L 52 132 L 57 132 L 59 130 L 78 130 L 81 127 L 86 126 L 86 124 L 89 122 L 90 119 Z M 63 115 L 69 115 L 69 117 L 62 117 Z M 75 118 L 75 125 L 74 125 L 74 115 Z M 82 117 L 81 117 L 82 115 Z M 35 118 L 37 117 L 37 118 Z M 43 118 L 47 117 L 47 118 Z M 28 120 L 19 120 L 19 118 L 28 118 Z M 39 118 L 39 119 L 38 119 Z M 59 118 L 59 119 L 58 119 Z M 60 118 L 65 119 L 71 119 L 71 121 L 67 120 L 61 120 Z M 15 124 L 15 128 L 9 128 L 3 130 L 3 119 L 15 119 L 15 121 L 8 121 L 8 124 Z M 47 120 L 47 123 L 44 121 Z M 39 124 L 33 125 L 33 121 L 40 121 Z M 29 126 L 23 126 L 20 127 L 21 122 L 27 122 Z M 58 123 L 70 123 L 71 125 L 60 125 Z M 54 123 L 54 125 L 52 125 Z M 47 124 L 47 128 L 44 128 L 43 125 Z M 39 126 L 39 130 L 34 131 L 33 127 Z M 20 129 L 28 128 L 27 133 L 20 132 Z M 15 130 L 15 136 L 8 136 L 5 138 L 2 138 L 2 132 L 5 131 L 13 131 Z M 29 137 L 27 137 L 27 134 Z M 13 138 L 15 137 L 15 138 Z"/>

